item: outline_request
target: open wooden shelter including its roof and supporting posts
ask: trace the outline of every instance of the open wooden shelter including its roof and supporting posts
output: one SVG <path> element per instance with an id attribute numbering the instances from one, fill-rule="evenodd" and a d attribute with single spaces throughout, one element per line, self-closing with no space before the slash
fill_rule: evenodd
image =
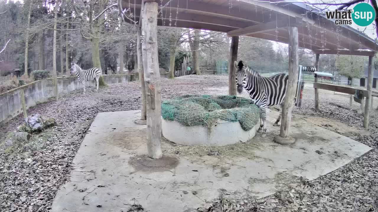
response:
<path id="1" fill-rule="evenodd" d="M 369 124 L 373 56 L 378 44 L 367 35 L 319 15 L 304 3 L 282 0 L 122 0 L 128 19 L 138 25 L 138 70 L 141 85 L 142 117 L 147 123 L 149 157 L 161 157 L 161 91 L 156 43 L 157 26 L 204 29 L 226 32 L 231 39 L 229 95 L 236 95 L 235 69 L 239 36 L 247 35 L 289 45 L 289 83 L 277 140 L 290 140 L 290 121 L 298 78 L 298 48 L 316 54 L 363 55 L 369 57 L 369 72 L 364 112 L 364 127 Z M 319 109 L 318 89 L 341 91 L 338 86 L 314 83 L 315 106 Z M 348 91 L 350 92 L 350 91 Z"/>

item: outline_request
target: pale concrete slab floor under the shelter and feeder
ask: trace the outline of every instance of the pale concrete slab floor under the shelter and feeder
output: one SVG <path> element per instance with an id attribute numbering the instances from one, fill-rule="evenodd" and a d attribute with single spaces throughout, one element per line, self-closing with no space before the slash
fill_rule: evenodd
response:
<path id="1" fill-rule="evenodd" d="M 51 212 L 126 212 L 132 204 L 151 212 L 181 212 L 217 198 L 221 189 L 266 196 L 296 176 L 317 178 L 370 150 L 297 117 L 293 117 L 291 128 L 296 143 L 274 143 L 273 137 L 279 133 L 279 127 L 273 127 L 277 115 L 268 113 L 267 137 L 257 134 L 250 141 L 259 143 L 253 160 L 205 155 L 165 156 L 154 162 L 145 155 L 146 126 L 134 123 L 139 111 L 99 113 L 73 160 L 70 181 L 60 187 Z M 163 150 L 167 145 L 163 142 Z"/>

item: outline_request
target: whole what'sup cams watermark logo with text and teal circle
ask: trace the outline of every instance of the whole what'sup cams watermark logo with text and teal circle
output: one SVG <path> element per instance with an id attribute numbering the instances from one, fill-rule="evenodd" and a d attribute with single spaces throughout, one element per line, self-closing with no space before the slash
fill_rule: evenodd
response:
<path id="1" fill-rule="evenodd" d="M 325 14 L 328 19 L 336 19 L 337 25 L 351 25 L 353 20 L 358 26 L 370 25 L 376 16 L 374 8 L 368 3 L 359 3 L 346 11 L 327 11 Z"/>

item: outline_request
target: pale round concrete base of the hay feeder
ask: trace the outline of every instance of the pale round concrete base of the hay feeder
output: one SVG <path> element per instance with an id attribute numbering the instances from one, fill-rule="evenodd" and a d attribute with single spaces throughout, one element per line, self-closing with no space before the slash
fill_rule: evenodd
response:
<path id="1" fill-rule="evenodd" d="M 260 121 L 249 131 L 243 130 L 239 121 L 220 120 L 210 130 L 202 125 L 184 126 L 177 121 L 162 120 L 163 136 L 177 144 L 187 146 L 209 145 L 224 146 L 243 143 L 253 138 L 259 129 Z"/>

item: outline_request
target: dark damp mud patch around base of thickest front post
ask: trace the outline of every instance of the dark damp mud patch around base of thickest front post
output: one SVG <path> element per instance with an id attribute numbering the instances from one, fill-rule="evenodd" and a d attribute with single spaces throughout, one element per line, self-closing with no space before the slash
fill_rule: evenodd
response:
<path id="1" fill-rule="evenodd" d="M 163 155 L 160 159 L 152 159 L 148 155 L 135 155 L 130 158 L 129 164 L 135 172 L 164 172 L 177 167 L 179 159 L 177 157 Z"/>

